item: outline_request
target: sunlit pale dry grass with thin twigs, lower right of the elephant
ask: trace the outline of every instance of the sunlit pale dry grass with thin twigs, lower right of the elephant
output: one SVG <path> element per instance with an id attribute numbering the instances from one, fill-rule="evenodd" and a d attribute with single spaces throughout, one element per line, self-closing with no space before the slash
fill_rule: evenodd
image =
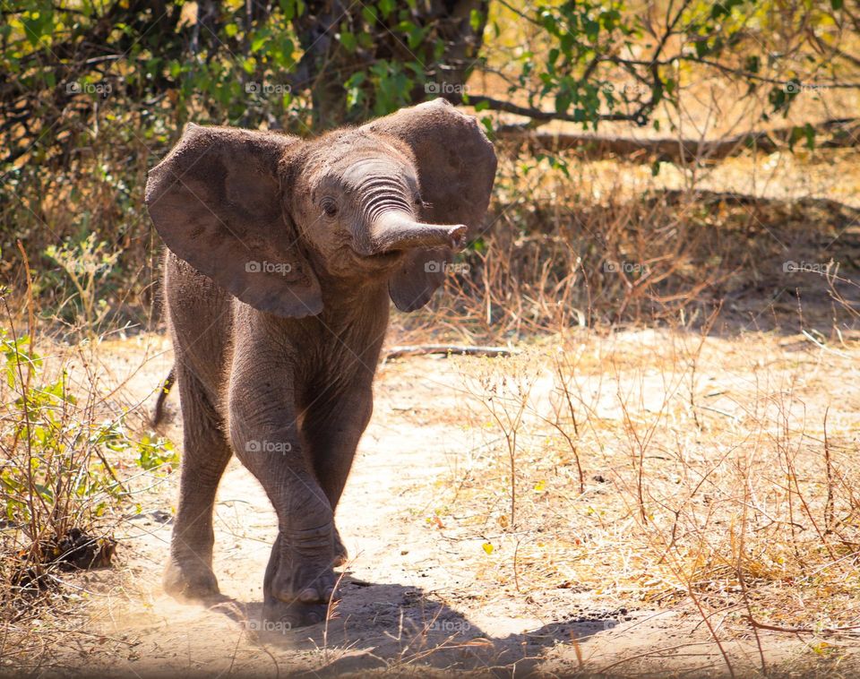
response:
<path id="1" fill-rule="evenodd" d="M 690 611 L 718 643 L 763 630 L 847 643 L 857 359 L 856 336 L 675 329 L 464 360 L 483 445 L 437 490 L 446 536 L 485 544 L 464 565 L 496 597 L 576 589 L 595 606 Z"/>

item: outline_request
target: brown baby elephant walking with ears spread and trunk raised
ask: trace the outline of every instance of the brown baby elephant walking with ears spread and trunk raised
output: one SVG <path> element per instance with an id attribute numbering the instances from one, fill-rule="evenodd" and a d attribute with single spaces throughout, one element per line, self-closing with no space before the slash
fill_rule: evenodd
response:
<path id="1" fill-rule="evenodd" d="M 495 167 L 477 121 L 437 99 L 314 141 L 189 125 L 150 172 L 185 425 L 170 594 L 218 594 L 212 505 L 233 451 L 278 516 L 264 617 L 323 620 L 389 298 L 426 305 Z"/>

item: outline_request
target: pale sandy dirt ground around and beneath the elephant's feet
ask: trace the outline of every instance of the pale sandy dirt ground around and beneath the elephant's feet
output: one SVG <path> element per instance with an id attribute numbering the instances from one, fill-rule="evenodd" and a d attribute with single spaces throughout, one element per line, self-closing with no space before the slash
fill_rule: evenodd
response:
<path id="1" fill-rule="evenodd" d="M 116 398 L 150 408 L 171 363 L 168 342 L 156 335 L 116 340 L 102 355 L 108 381 L 125 382 Z M 341 569 L 340 603 L 328 623 L 261 625 L 275 520 L 261 487 L 234 459 L 215 510 L 214 569 L 225 600 L 189 606 L 162 591 L 178 474 L 156 478 L 117 535 L 117 567 L 75 576 L 90 593 L 91 643 L 77 642 L 57 658 L 58 674 L 727 675 L 691 611 L 624 600 L 607 606 L 605 598 L 596 607 L 575 586 L 521 596 L 488 588 L 474 566 L 482 540 L 428 519 L 441 483 L 434 479 L 456 475 L 479 445 L 459 425 L 467 407 L 460 374 L 475 360 L 409 357 L 381 367 L 374 417 L 337 511 L 351 561 Z M 176 394 L 169 410 L 165 433 L 181 444 Z M 768 648 L 771 661 L 790 666 L 804 644 L 770 640 Z M 735 672 L 753 674 L 752 639 L 724 650 Z"/>

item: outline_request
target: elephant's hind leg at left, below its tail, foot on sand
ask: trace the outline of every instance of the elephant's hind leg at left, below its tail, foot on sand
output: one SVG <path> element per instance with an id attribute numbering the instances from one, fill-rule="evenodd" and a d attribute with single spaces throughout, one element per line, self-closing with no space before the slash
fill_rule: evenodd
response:
<path id="1" fill-rule="evenodd" d="M 181 361 L 177 360 L 176 370 L 184 443 L 179 504 L 164 589 L 174 597 L 205 599 L 219 593 L 218 580 L 212 572 L 212 510 L 230 448 L 221 419 L 202 384 Z"/>

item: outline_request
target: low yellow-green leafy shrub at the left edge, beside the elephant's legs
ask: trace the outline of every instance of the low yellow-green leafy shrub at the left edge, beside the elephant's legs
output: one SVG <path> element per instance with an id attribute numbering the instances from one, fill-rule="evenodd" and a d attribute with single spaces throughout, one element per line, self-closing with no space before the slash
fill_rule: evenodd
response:
<path id="1" fill-rule="evenodd" d="M 97 417 L 93 393 L 79 400 L 66 370 L 43 379 L 43 358 L 31 350 L 29 337 L 15 339 L 0 329 L 0 351 L 7 387 L 0 512 L 30 545 L 89 528 L 125 495 L 107 451 L 134 451 L 145 469 L 176 462 L 166 439 L 137 440 L 126 431 L 123 416 Z M 7 533 L 4 539 L 11 537 Z"/>

